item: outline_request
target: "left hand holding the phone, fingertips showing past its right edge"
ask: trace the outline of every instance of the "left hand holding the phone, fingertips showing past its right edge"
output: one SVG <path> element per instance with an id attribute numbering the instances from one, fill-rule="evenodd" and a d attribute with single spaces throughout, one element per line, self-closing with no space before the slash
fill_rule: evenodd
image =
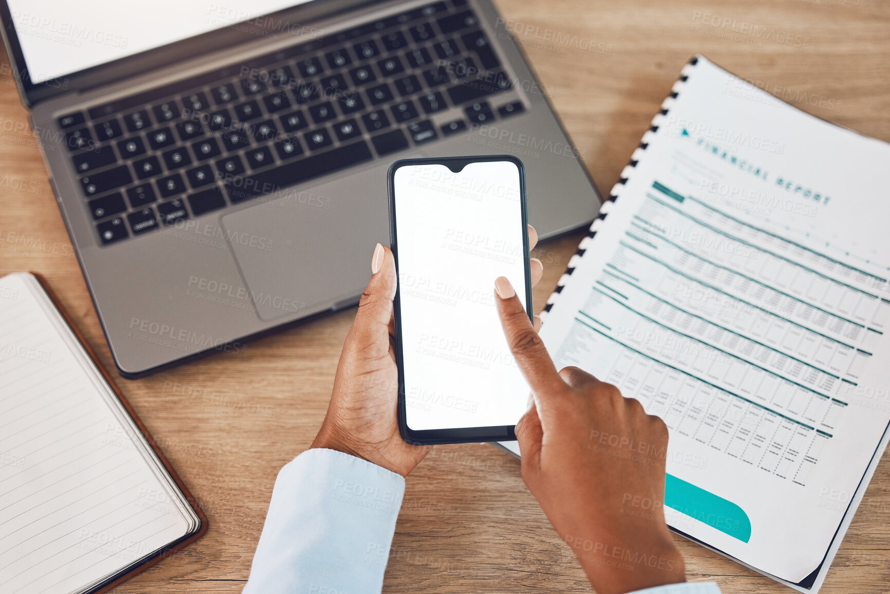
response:
<path id="1" fill-rule="evenodd" d="M 531 249 L 538 243 L 538 232 L 531 225 L 528 232 Z M 544 273 L 536 258 L 530 260 L 530 273 L 534 286 Z M 371 280 L 346 335 L 328 414 L 312 447 L 346 452 L 408 476 L 431 447 L 407 443 L 399 433 L 399 372 L 392 348 L 396 284 L 392 251 L 377 244 Z M 536 318 L 536 325 L 539 322 Z"/>

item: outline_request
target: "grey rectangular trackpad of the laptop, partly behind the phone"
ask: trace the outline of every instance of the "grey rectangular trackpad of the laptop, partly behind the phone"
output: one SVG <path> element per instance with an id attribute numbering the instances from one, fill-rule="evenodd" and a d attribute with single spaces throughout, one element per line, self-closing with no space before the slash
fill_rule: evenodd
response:
<path id="1" fill-rule="evenodd" d="M 386 166 L 287 188 L 220 218 L 263 321 L 308 315 L 360 295 L 377 241 L 389 245 Z"/>

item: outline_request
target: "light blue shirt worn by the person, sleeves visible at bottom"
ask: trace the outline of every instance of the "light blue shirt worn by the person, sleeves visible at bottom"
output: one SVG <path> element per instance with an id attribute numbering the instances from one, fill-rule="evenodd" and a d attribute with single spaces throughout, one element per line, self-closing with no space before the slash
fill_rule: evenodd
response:
<path id="1" fill-rule="evenodd" d="M 243 594 L 379 594 L 405 479 L 334 450 L 279 471 Z M 632 594 L 720 594 L 714 582 Z"/>

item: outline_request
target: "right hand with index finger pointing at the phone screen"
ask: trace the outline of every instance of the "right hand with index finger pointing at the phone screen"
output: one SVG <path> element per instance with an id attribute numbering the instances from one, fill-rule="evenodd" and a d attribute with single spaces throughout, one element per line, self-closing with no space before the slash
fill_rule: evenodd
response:
<path id="1" fill-rule="evenodd" d="M 516 425 L 522 480 L 556 533 L 600 594 L 685 582 L 662 511 L 664 421 L 586 371 L 557 372 L 509 281 L 495 287 L 507 344 L 531 388 Z"/>

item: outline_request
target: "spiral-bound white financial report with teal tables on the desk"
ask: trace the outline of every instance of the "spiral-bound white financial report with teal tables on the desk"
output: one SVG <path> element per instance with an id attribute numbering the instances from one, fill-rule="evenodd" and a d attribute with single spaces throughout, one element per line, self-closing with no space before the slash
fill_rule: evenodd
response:
<path id="1" fill-rule="evenodd" d="M 890 145 L 701 56 L 661 107 L 540 334 L 666 421 L 589 449 L 667 456 L 668 525 L 814 592 L 888 438 Z"/>

